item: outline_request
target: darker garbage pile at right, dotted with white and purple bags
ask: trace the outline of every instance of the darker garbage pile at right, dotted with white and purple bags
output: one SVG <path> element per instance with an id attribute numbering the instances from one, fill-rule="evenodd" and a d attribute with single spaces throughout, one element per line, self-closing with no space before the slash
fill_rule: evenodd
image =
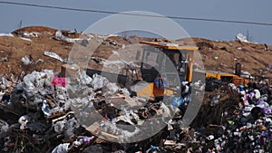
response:
<path id="1" fill-rule="evenodd" d="M 228 84 L 237 94 L 219 103 L 219 94 L 209 95 L 210 102 L 196 118 L 202 122 L 194 122 L 193 152 L 272 151 L 271 86 L 253 84 L 247 89 Z"/>

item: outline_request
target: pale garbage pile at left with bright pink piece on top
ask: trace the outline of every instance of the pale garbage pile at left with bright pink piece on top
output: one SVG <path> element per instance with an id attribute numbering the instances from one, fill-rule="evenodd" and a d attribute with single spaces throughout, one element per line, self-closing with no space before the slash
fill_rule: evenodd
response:
<path id="1" fill-rule="evenodd" d="M 151 138 L 147 141 L 128 145 L 104 141 L 102 148 L 97 148 L 100 145 L 97 143 L 98 134 L 121 139 L 125 143 L 136 134 L 147 137 L 148 133 L 142 132 L 139 127 L 157 129 L 161 124 L 167 127 L 172 122 L 170 108 L 161 101 L 132 97 L 129 90 L 98 74 L 90 77 L 83 72 L 73 81 L 72 78 L 58 75 L 51 70 L 44 70 L 27 74 L 22 81 L 13 78 L 9 81 L 1 77 L 2 152 L 63 153 L 102 148 L 104 152 L 118 149 L 137 152 L 150 148 L 147 141 L 159 145 L 161 138 L 165 137 L 161 135 L 169 132 L 163 129 L 166 133 L 161 131 L 149 136 Z M 186 85 L 185 92 L 188 93 L 189 86 Z M 184 100 L 173 101 L 172 105 L 182 107 L 188 102 L 189 95 Z M 99 114 L 93 114 L 95 110 Z M 160 118 L 151 123 L 143 122 L 154 115 Z M 90 129 L 91 123 L 96 124 L 99 119 L 102 119 L 98 122 L 99 128 Z M 112 145 L 106 148 L 108 144 Z"/>

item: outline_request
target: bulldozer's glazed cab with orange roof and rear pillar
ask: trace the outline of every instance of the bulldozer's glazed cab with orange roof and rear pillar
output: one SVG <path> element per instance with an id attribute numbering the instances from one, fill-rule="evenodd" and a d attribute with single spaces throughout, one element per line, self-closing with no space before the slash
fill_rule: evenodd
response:
<path id="1" fill-rule="evenodd" d="M 159 73 L 166 75 L 170 87 L 176 86 L 180 81 L 192 80 L 193 52 L 198 47 L 187 48 L 157 42 L 141 43 L 148 44 L 143 46 L 141 58 L 141 77 L 144 81 L 154 81 Z"/>

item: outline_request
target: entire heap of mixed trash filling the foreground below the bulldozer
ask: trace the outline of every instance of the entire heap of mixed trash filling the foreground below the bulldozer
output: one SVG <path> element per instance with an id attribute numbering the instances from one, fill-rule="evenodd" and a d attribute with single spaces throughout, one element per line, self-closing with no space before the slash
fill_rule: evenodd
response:
<path id="1" fill-rule="evenodd" d="M 44 70 L 22 80 L 2 75 L 1 152 L 272 152 L 272 86 L 228 84 L 226 91 L 209 91 L 197 118 L 182 127 L 190 88 L 204 87 L 181 85 L 182 97 L 169 107 L 98 74 L 65 77 Z M 155 115 L 162 118 L 144 121 Z M 154 135 L 141 129 L 160 126 Z"/>

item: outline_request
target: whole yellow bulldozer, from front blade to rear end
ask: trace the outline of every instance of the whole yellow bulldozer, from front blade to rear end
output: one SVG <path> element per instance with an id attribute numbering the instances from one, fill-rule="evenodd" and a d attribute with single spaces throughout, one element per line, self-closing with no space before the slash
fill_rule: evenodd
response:
<path id="1" fill-rule="evenodd" d="M 194 67 L 194 55 L 199 51 L 199 47 L 146 41 L 141 42 L 141 44 L 143 44 L 144 49 L 141 53 L 141 57 L 138 58 L 141 58 L 141 78 L 145 83 L 141 84 L 141 82 L 138 82 L 137 85 L 133 84 L 131 86 L 131 84 L 128 84 L 127 76 L 110 72 L 89 69 L 87 70 L 87 74 L 92 76 L 94 73 L 103 73 L 110 81 L 111 78 L 117 78 L 117 81 L 125 84 L 127 88 L 131 89 L 134 87 L 137 96 L 144 97 L 160 97 L 174 94 L 175 91 L 179 91 L 179 89 L 175 88 L 179 86 L 180 82 L 197 81 L 199 78 L 198 76 L 203 76 L 204 79 L 216 78 L 219 81 L 232 82 L 235 85 L 245 85 L 249 81 L 248 78 L 240 77 L 241 66 L 239 63 L 236 65 L 235 74 L 197 71 Z M 149 64 L 148 62 L 151 61 L 156 63 Z M 175 72 L 173 72 L 173 68 L 175 69 Z M 160 72 L 163 72 L 163 74 Z M 167 81 L 168 86 L 163 86 L 165 80 Z M 160 87 L 161 85 L 163 86 L 162 88 Z M 131 90 L 133 91 L 133 89 Z"/>

